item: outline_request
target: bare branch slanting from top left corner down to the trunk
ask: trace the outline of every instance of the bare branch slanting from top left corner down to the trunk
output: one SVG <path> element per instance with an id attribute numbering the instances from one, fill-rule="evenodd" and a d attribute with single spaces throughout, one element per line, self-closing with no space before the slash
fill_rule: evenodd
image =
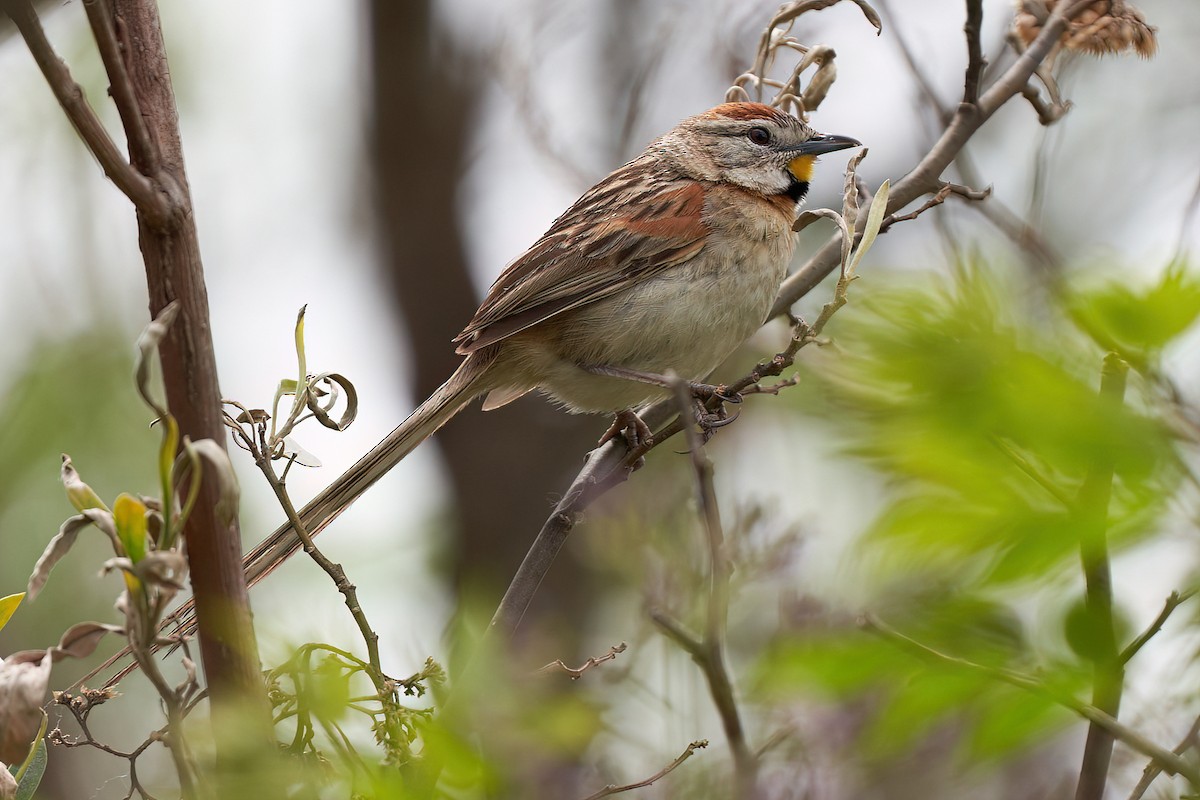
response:
<path id="1" fill-rule="evenodd" d="M 133 204 L 155 224 L 163 225 L 172 217 L 172 207 L 167 196 L 160 192 L 152 181 L 136 170 L 125 160 L 113 138 L 100 121 L 96 112 L 88 103 L 83 89 L 71 77 L 67 65 L 54 53 L 42 23 L 29 0 L 0 0 L 12 22 L 17 25 L 29 52 L 41 68 L 50 91 L 58 98 L 64 113 L 88 150 L 96 156 L 108 179 L 125 193 Z"/>

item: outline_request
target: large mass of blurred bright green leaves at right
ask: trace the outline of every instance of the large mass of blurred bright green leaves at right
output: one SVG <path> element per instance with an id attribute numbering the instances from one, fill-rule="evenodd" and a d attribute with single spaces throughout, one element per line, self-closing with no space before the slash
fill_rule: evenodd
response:
<path id="1" fill-rule="evenodd" d="M 1162 533 L 1184 444 L 1152 367 L 1198 314 L 1200 281 L 1181 264 L 1146 289 L 1112 283 L 1049 305 L 980 265 L 860 290 L 832 325 L 836 356 L 806 377 L 845 453 L 887 485 L 853 579 L 890 628 L 982 668 L 833 619 L 781 631 L 758 660 L 756 696 L 817 690 L 865 705 L 859 738 L 875 758 L 949 728 L 961 757 L 998 759 L 1070 722 L 1049 694 L 989 670 L 1086 698 L 1094 637 L 1079 600 L 1076 498 L 1088 470 L 1111 463 L 1110 545 Z M 1144 373 L 1124 403 L 1098 393 L 1114 348 Z M 1060 620 L 1049 640 L 1031 631 L 1048 616 Z M 1116 626 L 1123 646 L 1130 626 Z"/>

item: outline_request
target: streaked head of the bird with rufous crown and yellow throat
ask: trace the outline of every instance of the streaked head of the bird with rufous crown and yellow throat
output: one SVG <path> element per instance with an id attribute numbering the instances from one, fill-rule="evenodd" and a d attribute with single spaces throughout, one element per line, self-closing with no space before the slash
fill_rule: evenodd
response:
<path id="1" fill-rule="evenodd" d="M 722 103 L 684 120 L 652 148 L 688 178 L 786 194 L 799 203 L 817 156 L 860 145 L 850 137 L 817 133 L 763 103 Z"/>

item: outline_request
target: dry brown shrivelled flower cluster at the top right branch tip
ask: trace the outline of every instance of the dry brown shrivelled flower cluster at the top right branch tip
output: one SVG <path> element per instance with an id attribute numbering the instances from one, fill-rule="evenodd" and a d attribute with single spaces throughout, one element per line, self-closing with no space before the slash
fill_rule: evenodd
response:
<path id="1" fill-rule="evenodd" d="M 1020 0 L 1013 31 L 1028 46 L 1042 32 L 1060 0 Z M 1108 55 L 1133 52 L 1144 59 L 1158 49 L 1158 29 L 1133 4 L 1096 0 L 1067 24 L 1060 42 L 1068 50 Z"/>

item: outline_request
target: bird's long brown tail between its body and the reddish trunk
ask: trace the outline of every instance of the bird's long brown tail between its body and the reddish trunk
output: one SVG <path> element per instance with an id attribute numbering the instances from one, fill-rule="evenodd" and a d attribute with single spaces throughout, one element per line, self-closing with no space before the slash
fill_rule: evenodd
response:
<path id="1" fill-rule="evenodd" d="M 463 361 L 449 380 L 421 403 L 407 420 L 300 509 L 300 521 L 308 534 L 316 536 L 324 530 L 372 483 L 449 422 L 467 403 L 486 391 L 488 386 L 485 377 L 488 365 L 490 361 L 480 357 L 468 357 Z M 300 537 L 290 523 L 284 523 L 246 554 L 242 564 L 246 570 L 246 583 L 253 585 L 299 548 Z"/>

